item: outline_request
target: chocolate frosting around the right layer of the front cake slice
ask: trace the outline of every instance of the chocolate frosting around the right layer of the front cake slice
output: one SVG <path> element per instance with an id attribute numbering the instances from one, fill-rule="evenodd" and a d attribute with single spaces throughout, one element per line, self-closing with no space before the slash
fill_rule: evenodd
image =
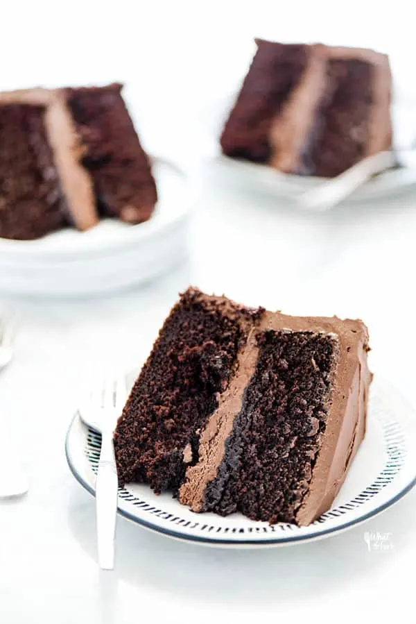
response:
<path id="1" fill-rule="evenodd" d="M 297 511 L 297 523 L 307 525 L 331 506 L 365 435 L 366 401 L 372 376 L 367 368 L 367 329 L 361 321 L 342 321 L 337 317 L 290 317 L 279 312 L 265 312 L 241 348 L 236 374 L 202 431 L 198 463 L 187 469 L 179 498 L 193 511 L 202 510 L 207 484 L 216 478 L 223 462 L 226 441 L 256 366 L 259 355 L 256 335 L 266 330 L 322 332 L 335 335 L 339 344 L 326 431 L 313 467 L 309 491 Z"/>

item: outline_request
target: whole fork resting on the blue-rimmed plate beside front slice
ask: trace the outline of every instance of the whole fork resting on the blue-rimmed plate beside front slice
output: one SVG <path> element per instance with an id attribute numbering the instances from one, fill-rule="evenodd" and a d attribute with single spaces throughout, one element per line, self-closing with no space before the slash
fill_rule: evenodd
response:
<path id="1" fill-rule="evenodd" d="M 96 529 L 98 564 L 103 570 L 114 568 L 119 482 L 113 435 L 126 395 L 125 377 L 114 380 L 105 376 L 104 382 L 101 378 L 101 383 L 92 383 L 89 396 L 80 407 L 83 422 L 101 433 L 101 452 L 96 478 Z"/>

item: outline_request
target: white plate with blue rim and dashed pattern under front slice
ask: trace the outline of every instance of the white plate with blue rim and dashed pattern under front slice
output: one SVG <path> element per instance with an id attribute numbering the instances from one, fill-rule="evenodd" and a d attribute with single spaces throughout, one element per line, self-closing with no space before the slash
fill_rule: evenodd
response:
<path id="1" fill-rule="evenodd" d="M 130 376 L 130 385 L 134 376 Z M 69 467 L 90 494 L 101 437 L 76 414 L 67 433 Z M 119 489 L 119 513 L 139 525 L 177 539 L 211 546 L 281 546 L 322 539 L 351 528 L 396 503 L 416 483 L 416 416 L 396 392 L 375 380 L 367 435 L 333 507 L 307 527 L 254 522 L 241 514 L 225 518 L 194 514 L 170 494 L 156 496 L 146 485 Z"/>

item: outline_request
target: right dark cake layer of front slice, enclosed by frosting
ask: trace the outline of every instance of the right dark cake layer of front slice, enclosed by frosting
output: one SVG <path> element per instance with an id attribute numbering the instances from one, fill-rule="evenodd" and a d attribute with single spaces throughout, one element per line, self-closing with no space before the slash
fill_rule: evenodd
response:
<path id="1" fill-rule="evenodd" d="M 328 419 L 338 341 L 268 330 L 258 345 L 254 373 L 201 509 L 295 522 Z"/>

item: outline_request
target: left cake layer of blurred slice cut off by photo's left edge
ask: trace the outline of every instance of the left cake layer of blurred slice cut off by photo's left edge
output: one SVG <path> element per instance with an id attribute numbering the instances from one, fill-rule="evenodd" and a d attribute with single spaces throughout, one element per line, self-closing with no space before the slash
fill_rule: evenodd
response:
<path id="1" fill-rule="evenodd" d="M 0 99 L 0 237 L 30 240 L 67 224 L 44 116 L 40 104 Z"/>

